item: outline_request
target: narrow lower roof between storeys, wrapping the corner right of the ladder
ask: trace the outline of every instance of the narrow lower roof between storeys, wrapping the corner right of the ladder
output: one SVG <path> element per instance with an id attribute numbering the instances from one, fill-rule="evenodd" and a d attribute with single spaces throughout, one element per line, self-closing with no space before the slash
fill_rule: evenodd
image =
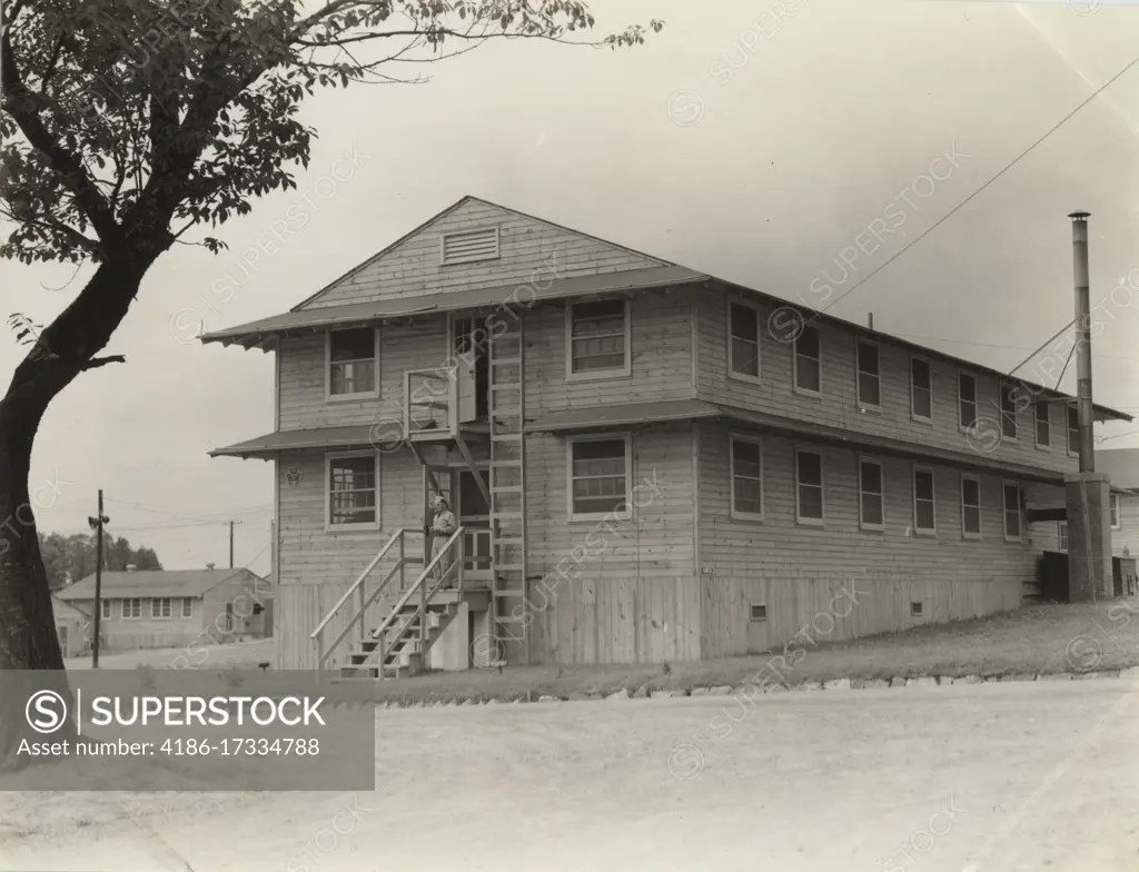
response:
<path id="1" fill-rule="evenodd" d="M 551 412 L 527 425 L 525 429 L 527 433 L 565 434 L 700 419 L 720 419 L 743 425 L 749 429 L 757 429 L 762 433 L 790 436 L 796 439 L 837 447 L 870 451 L 887 456 L 926 462 L 935 461 L 967 470 L 988 470 L 993 474 L 1014 476 L 1027 482 L 1040 482 L 1051 485 L 1064 484 L 1064 474 L 1062 471 L 1000 461 L 982 452 L 949 451 L 926 445 L 917 446 L 900 439 L 869 434 L 855 434 L 837 427 L 797 421 L 781 416 L 754 412 L 721 403 L 708 403 L 703 400 L 625 403 Z"/>

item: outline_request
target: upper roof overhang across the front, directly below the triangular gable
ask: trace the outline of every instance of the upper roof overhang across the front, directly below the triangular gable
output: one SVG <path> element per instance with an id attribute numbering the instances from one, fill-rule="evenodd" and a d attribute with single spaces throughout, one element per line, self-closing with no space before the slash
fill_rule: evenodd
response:
<path id="1" fill-rule="evenodd" d="M 302 309 L 226 330 L 215 330 L 199 338 L 203 343 L 236 344 L 245 348 L 269 349 L 279 336 L 289 332 L 366 326 L 462 310 L 502 309 L 507 312 L 511 310 L 517 312 L 543 301 L 665 288 L 707 279 L 704 273 L 685 266 L 652 266 L 564 279 L 543 279 L 540 282 L 515 282 L 473 290 L 425 294 L 411 299 L 379 299 L 346 306 Z"/>

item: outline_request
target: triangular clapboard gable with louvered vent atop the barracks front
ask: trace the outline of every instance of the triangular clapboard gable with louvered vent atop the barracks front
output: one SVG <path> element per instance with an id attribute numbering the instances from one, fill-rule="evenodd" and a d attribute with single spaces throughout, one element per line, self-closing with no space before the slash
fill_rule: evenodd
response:
<path id="1" fill-rule="evenodd" d="M 293 311 L 673 265 L 467 196 Z"/>

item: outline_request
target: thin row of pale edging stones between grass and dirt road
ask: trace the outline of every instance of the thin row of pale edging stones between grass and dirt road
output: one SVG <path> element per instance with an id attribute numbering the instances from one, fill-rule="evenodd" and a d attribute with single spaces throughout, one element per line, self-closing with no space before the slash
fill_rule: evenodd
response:
<path id="1" fill-rule="evenodd" d="M 949 676 L 923 676 L 915 678 L 833 678 L 830 681 L 808 681 L 790 686 L 782 684 L 759 685 L 741 684 L 736 688 L 730 684 L 721 684 L 710 688 L 693 688 L 690 690 L 649 690 L 640 686 L 633 691 L 628 688 L 609 693 L 570 693 L 566 696 L 542 694 L 536 698 L 527 693 L 526 698 L 453 698 L 453 699 L 421 699 L 421 700 L 376 700 L 376 708 L 456 708 L 460 706 L 493 706 L 493 705 L 517 705 L 522 702 L 574 702 L 579 700 L 623 700 L 623 699 L 670 699 L 678 697 L 730 697 L 735 694 L 747 694 L 749 697 L 759 693 L 773 692 L 796 692 L 796 691 L 834 691 L 834 690 L 874 690 L 879 688 L 924 688 L 943 686 L 948 684 L 997 684 L 997 683 L 1023 683 L 1030 681 L 1087 681 L 1092 678 L 1128 678 L 1139 681 L 1139 666 L 1128 669 L 1099 669 L 1084 673 L 1047 673 L 1021 675 L 962 675 L 959 677 Z M 334 702 L 339 705 L 360 705 L 359 702 Z M 367 704 L 371 705 L 371 704 Z"/>

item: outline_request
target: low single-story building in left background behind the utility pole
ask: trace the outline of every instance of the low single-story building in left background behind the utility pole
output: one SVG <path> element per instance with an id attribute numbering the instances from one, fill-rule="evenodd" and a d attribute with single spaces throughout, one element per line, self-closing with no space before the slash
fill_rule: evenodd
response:
<path id="1" fill-rule="evenodd" d="M 248 569 L 104 573 L 100 594 L 107 651 L 236 642 L 273 631 L 270 584 Z M 93 616 L 95 575 L 56 595 Z"/>

